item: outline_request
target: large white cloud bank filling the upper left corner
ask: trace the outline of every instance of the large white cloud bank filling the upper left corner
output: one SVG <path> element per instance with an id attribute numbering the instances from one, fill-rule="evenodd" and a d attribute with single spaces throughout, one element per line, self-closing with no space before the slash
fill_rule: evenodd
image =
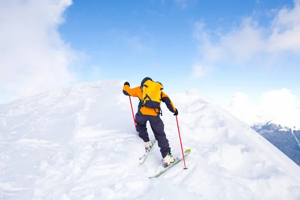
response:
<path id="1" fill-rule="evenodd" d="M 75 52 L 58 32 L 64 22 L 62 14 L 71 3 L 0 1 L 1 100 L 35 94 L 74 79 L 68 67 Z"/>

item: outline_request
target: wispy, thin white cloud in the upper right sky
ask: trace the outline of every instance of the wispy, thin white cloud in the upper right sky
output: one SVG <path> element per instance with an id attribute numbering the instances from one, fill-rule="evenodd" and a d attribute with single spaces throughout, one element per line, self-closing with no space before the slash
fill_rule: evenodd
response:
<path id="1" fill-rule="evenodd" d="M 274 11 L 274 10 L 273 10 Z M 237 27 L 226 33 L 205 29 L 205 23 L 194 24 L 193 37 L 204 65 L 218 63 L 241 65 L 255 62 L 271 66 L 284 60 L 288 53 L 300 54 L 300 0 L 292 8 L 283 7 L 274 14 L 270 25 L 260 26 L 253 17 L 243 17 Z"/>

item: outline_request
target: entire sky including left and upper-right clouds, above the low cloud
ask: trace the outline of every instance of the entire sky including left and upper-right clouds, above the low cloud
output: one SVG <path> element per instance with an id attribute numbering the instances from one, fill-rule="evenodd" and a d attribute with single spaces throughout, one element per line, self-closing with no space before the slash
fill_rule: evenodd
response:
<path id="1" fill-rule="evenodd" d="M 145 76 L 162 82 L 165 92 L 194 87 L 219 103 L 238 91 L 253 99 L 281 88 L 300 94 L 298 0 L 0 5 L 7 22 L 0 23 L 0 45 L 11 48 L 0 57 L 9 66 L 1 69 L 4 99 L 81 81 L 126 79 L 134 86 Z"/>

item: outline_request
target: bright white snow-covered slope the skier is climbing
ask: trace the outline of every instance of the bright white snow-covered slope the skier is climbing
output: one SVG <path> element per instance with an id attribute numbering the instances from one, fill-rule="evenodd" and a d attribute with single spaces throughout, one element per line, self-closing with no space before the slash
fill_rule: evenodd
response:
<path id="1" fill-rule="evenodd" d="M 156 144 L 138 164 L 144 144 L 123 82 L 84 82 L 0 104 L 1 199 L 300 199 L 300 167 L 193 89 L 169 94 L 183 148 L 191 149 L 188 169 L 182 161 L 147 178 L 161 156 Z M 175 116 L 162 109 L 180 155 Z"/>

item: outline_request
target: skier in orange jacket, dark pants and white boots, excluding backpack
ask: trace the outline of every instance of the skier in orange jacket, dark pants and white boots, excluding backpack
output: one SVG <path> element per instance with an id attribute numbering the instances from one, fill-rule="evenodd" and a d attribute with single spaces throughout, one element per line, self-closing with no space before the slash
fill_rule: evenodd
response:
<path id="1" fill-rule="evenodd" d="M 125 82 L 123 86 L 123 93 L 125 95 L 139 98 L 140 101 L 138 104 L 138 110 L 135 114 L 136 131 L 138 132 L 139 137 L 142 138 L 145 142 L 145 148 L 149 149 L 152 145 L 152 143 L 149 140 L 149 135 L 146 128 L 146 122 L 149 121 L 155 139 L 157 140 L 158 146 L 160 147 L 161 156 L 165 164 L 168 165 L 169 163 L 174 161 L 174 158 L 171 154 L 168 139 L 166 138 L 164 132 L 164 124 L 161 118 L 159 117 L 161 111 L 160 107 L 153 109 L 151 107 L 143 106 L 141 103 L 142 86 L 147 80 L 152 81 L 151 78 L 145 77 L 144 79 L 142 79 L 140 86 L 134 88 L 130 88 L 129 83 Z M 163 91 L 161 91 L 161 101 L 166 104 L 167 108 L 171 112 L 173 112 L 174 115 L 178 114 L 178 110 L 174 107 L 168 95 L 166 95 Z"/>

